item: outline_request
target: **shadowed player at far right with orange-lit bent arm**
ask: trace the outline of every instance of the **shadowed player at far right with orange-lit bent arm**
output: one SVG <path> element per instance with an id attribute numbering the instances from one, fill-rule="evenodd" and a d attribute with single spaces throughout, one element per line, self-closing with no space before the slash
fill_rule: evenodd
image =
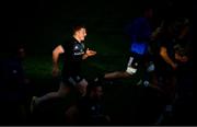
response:
<path id="1" fill-rule="evenodd" d="M 158 39 L 159 55 L 155 64 L 155 84 L 159 90 L 164 93 L 166 99 L 164 102 L 164 112 L 161 115 L 163 117 L 161 118 L 162 120 L 170 117 L 172 119 L 172 113 L 174 112 L 173 109 L 177 97 L 179 94 L 183 95 L 187 93 L 192 84 L 192 80 L 186 80 L 190 79 L 188 72 L 188 70 L 190 70 L 190 64 L 188 59 L 190 59 L 192 48 L 188 26 L 187 19 L 176 19 L 173 21 L 165 21 L 161 27 L 160 37 Z M 187 72 L 187 76 L 185 76 L 185 72 Z M 185 81 L 187 81 L 188 85 Z M 162 122 L 161 119 L 159 122 L 160 124 Z"/>

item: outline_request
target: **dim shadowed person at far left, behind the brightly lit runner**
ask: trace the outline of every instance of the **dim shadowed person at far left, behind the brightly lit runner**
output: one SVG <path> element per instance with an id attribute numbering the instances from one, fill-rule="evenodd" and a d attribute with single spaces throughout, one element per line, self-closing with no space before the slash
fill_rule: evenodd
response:
<path id="1" fill-rule="evenodd" d="M 12 37 L 8 38 L 2 47 L 0 56 L 0 101 L 1 113 L 4 114 L 2 122 L 9 119 L 12 124 L 24 124 L 30 96 L 30 81 L 23 67 L 25 50 L 19 41 L 12 41 Z"/>

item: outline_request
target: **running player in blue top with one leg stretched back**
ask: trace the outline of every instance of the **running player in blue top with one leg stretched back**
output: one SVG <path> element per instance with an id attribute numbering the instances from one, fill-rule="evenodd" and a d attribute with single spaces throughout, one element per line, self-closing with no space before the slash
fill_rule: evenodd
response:
<path id="1" fill-rule="evenodd" d="M 152 15 L 153 9 L 150 7 L 144 8 L 142 16 L 136 18 L 127 27 L 127 33 L 130 37 L 130 57 L 127 69 L 125 71 L 105 73 L 101 76 L 103 79 L 131 78 L 140 68 L 147 68 L 144 76 L 147 76 L 147 70 L 153 71 L 153 62 L 149 62 L 149 43 L 152 32 L 150 20 Z"/>

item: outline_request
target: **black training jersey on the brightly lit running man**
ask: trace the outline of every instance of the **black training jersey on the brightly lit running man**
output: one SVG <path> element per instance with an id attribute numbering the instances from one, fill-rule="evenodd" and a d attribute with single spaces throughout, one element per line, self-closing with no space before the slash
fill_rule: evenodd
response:
<path id="1" fill-rule="evenodd" d="M 79 76 L 81 72 L 81 61 L 84 54 L 84 44 L 79 43 L 74 37 L 63 45 L 63 68 L 62 76 Z"/>

